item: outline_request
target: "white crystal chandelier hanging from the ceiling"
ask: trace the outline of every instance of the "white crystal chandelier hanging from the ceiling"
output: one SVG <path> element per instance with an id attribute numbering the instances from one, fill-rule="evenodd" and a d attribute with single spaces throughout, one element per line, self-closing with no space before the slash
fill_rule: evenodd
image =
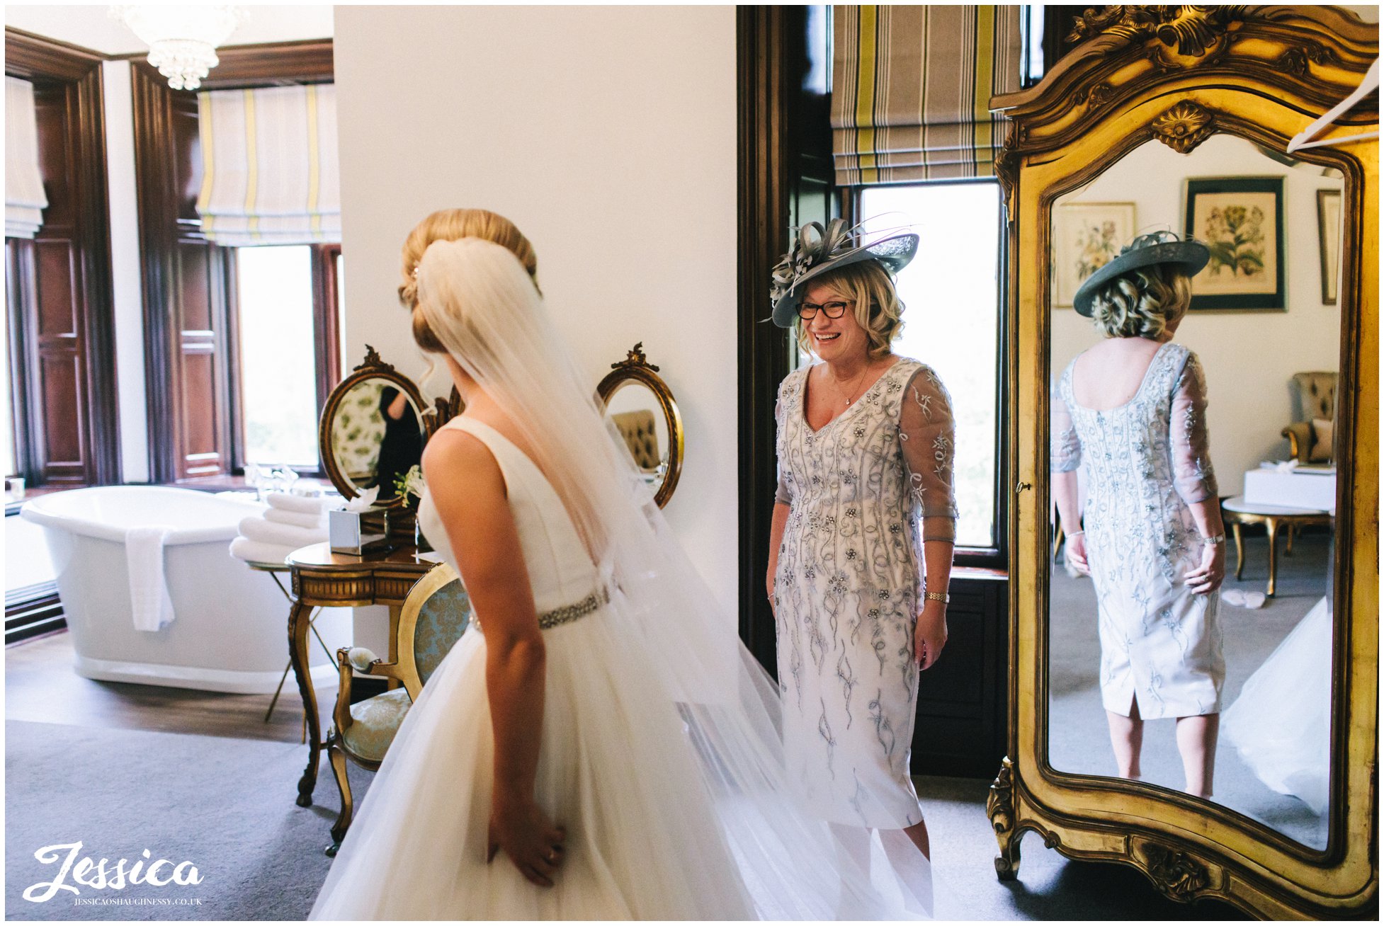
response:
<path id="1" fill-rule="evenodd" d="M 219 64 L 216 46 L 223 44 L 245 18 L 239 7 L 177 6 L 111 7 L 149 46 L 149 64 L 169 79 L 174 90 L 197 90 L 202 78 Z"/>

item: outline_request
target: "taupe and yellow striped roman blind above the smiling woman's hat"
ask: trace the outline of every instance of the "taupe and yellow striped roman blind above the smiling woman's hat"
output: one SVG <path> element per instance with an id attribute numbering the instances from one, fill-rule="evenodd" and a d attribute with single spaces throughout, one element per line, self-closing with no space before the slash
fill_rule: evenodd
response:
<path id="1" fill-rule="evenodd" d="M 1019 89 L 1017 6 L 832 7 L 836 183 L 994 176 L 990 97 Z"/>

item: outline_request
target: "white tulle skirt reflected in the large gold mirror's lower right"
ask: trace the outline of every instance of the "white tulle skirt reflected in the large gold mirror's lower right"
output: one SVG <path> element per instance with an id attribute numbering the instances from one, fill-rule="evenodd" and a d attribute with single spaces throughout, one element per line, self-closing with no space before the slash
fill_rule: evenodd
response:
<path id="1" fill-rule="evenodd" d="M 1280 795 L 1324 814 L 1331 756 L 1331 612 L 1306 612 L 1240 689 L 1221 735 Z"/>

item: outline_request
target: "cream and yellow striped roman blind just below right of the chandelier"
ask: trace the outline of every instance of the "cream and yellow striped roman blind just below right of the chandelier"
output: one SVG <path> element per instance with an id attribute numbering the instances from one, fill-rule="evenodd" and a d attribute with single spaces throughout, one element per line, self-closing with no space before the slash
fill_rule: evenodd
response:
<path id="1" fill-rule="evenodd" d="M 336 87 L 197 94 L 202 233 L 219 245 L 300 245 L 342 237 Z"/>

